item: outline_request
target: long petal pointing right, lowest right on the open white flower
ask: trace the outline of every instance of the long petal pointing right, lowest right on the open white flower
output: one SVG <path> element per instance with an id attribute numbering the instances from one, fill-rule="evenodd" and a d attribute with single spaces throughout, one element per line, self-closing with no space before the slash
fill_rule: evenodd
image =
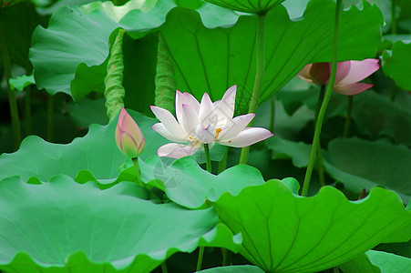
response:
<path id="1" fill-rule="evenodd" d="M 230 147 L 247 147 L 271 136 L 274 136 L 274 134 L 265 128 L 249 127 L 245 128 L 240 132 L 240 134 L 232 137 L 231 139 L 224 139 L 218 142 L 221 145 Z"/>

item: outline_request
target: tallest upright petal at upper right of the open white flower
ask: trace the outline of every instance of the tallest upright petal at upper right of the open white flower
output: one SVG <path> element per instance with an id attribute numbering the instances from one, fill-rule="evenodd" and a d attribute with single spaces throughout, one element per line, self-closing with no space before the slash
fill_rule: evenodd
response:
<path id="1" fill-rule="evenodd" d="M 224 126 L 234 116 L 235 95 L 237 93 L 237 86 L 231 86 L 225 91 L 221 100 L 214 102 L 218 120 L 216 126 Z"/>

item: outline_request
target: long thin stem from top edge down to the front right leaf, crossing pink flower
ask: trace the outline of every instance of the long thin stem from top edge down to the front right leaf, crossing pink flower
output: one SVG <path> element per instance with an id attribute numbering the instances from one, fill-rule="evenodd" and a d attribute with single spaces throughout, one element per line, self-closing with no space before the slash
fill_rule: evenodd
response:
<path id="1" fill-rule="evenodd" d="M 311 147 L 310 158 L 308 160 L 307 171 L 305 173 L 302 196 L 306 197 L 308 194 L 308 188 L 310 187 L 311 177 L 313 175 L 313 165 L 317 154 L 317 149 L 320 144 L 321 129 L 323 127 L 325 111 L 328 106 L 328 102 L 333 94 L 333 87 L 335 82 L 336 70 L 337 70 L 337 52 L 338 52 L 338 38 L 340 35 L 340 21 L 341 11 L 343 7 L 343 0 L 337 0 L 335 5 L 335 20 L 334 20 L 334 39 L 333 39 L 333 56 L 331 59 L 331 73 L 330 80 L 325 91 L 324 101 L 321 105 L 318 113 L 317 122 L 315 123 L 315 131 L 313 136 L 313 145 Z"/>

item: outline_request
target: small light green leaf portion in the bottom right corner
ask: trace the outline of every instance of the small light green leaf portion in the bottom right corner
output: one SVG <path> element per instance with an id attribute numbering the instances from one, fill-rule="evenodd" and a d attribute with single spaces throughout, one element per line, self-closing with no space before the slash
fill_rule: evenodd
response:
<path id="1" fill-rule="evenodd" d="M 381 269 L 382 273 L 411 272 L 411 258 L 376 250 L 369 250 L 366 255 L 375 266 Z"/>

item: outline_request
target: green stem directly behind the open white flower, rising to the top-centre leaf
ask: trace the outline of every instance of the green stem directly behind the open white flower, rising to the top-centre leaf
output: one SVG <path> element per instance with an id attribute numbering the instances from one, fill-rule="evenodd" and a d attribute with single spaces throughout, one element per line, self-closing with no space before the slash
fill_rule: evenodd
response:
<path id="1" fill-rule="evenodd" d="M 265 31 L 265 13 L 258 15 L 257 20 L 257 34 L 255 36 L 255 78 L 254 86 L 252 87 L 252 98 L 248 109 L 249 113 L 255 113 L 260 101 L 260 94 L 262 91 L 262 82 L 264 80 L 265 72 L 265 57 L 264 57 L 264 31 Z M 252 122 L 249 124 L 252 126 Z M 242 147 L 240 163 L 247 164 L 250 147 Z"/>

